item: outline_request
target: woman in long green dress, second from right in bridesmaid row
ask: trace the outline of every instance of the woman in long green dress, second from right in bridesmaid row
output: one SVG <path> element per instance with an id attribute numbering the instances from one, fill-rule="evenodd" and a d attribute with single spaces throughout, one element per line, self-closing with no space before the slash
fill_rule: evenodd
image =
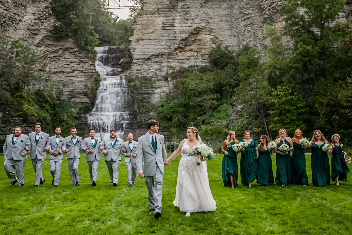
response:
<path id="1" fill-rule="evenodd" d="M 324 144 L 328 142 L 320 130 L 315 130 L 310 148 L 312 149 L 312 157 L 310 160 L 312 167 L 312 185 L 324 187 L 330 183 L 330 165 L 328 154 L 322 150 Z M 330 150 L 331 152 L 331 150 Z"/>

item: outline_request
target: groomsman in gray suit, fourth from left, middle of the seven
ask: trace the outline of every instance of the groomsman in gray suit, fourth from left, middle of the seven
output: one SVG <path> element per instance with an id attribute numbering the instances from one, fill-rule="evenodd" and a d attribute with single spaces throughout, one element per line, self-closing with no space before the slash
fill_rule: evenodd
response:
<path id="1" fill-rule="evenodd" d="M 81 153 L 80 148 L 82 144 L 82 137 L 77 136 L 77 129 L 75 127 L 71 128 L 71 135 L 65 138 L 66 148 L 67 148 L 67 164 L 68 172 L 70 173 L 72 179 L 72 185 L 80 185 L 80 180 L 78 178 L 78 163 L 80 162 Z"/>

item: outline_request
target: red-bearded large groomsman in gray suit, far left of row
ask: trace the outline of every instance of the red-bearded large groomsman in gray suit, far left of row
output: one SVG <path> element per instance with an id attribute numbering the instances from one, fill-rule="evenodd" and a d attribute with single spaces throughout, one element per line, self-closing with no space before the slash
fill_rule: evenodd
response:
<path id="1" fill-rule="evenodd" d="M 18 186 L 24 185 L 24 165 L 26 164 L 28 151 L 31 148 L 31 141 L 27 135 L 22 135 L 22 129 L 16 126 L 13 134 L 6 136 L 6 141 L 3 147 L 5 161 L 4 168 L 11 184 Z M 17 177 L 14 170 L 16 169 Z"/>

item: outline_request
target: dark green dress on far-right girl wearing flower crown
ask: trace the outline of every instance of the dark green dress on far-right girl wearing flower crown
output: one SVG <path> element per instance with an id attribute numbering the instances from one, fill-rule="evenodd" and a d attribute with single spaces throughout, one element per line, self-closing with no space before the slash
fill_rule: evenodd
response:
<path id="1" fill-rule="evenodd" d="M 341 145 L 335 146 L 332 149 L 331 156 L 331 180 L 335 181 L 336 177 L 340 175 L 339 180 L 346 182 L 348 172 L 350 172 L 350 169 L 345 162 L 345 156 L 342 154 L 342 147 Z"/>

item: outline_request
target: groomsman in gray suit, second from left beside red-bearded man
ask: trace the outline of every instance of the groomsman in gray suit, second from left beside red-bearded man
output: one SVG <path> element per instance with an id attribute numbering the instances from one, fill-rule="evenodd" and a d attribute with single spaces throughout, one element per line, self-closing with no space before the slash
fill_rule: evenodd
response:
<path id="1" fill-rule="evenodd" d="M 42 132 L 42 124 L 36 123 L 34 125 L 33 131 L 29 134 L 29 139 L 31 141 L 31 152 L 30 158 L 32 160 L 32 165 L 34 172 L 36 173 L 36 177 L 34 178 L 34 186 L 39 186 L 39 184 L 43 184 L 45 179 L 42 175 L 43 163 L 46 157 L 46 151 L 50 148 L 46 147 L 46 143 L 48 143 L 49 135 Z"/>

